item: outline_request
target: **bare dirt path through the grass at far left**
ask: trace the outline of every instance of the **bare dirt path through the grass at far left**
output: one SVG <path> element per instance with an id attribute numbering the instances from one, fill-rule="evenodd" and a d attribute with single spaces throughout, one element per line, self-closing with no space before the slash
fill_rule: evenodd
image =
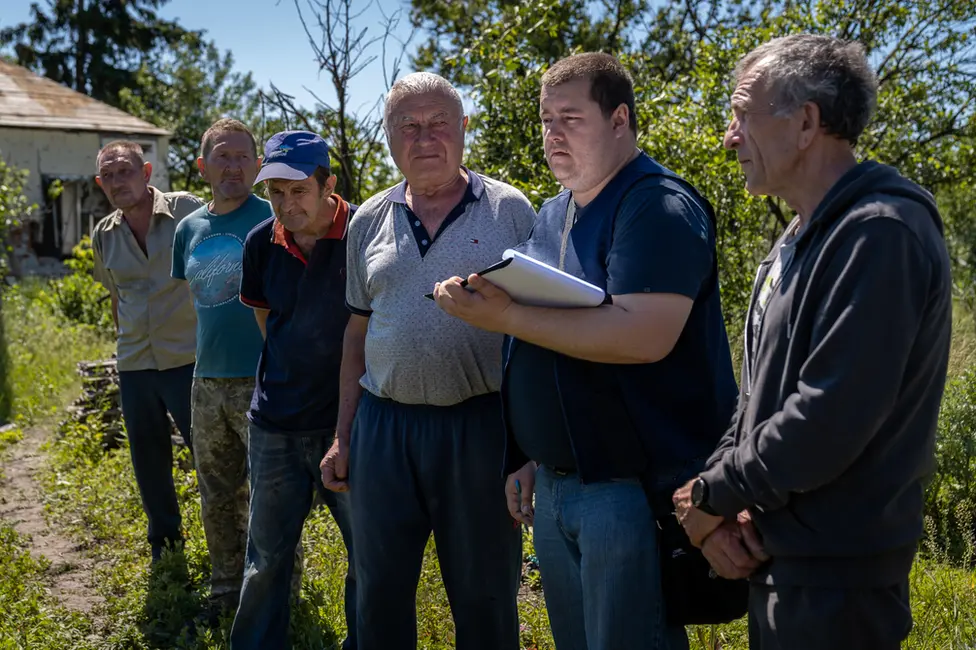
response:
<path id="1" fill-rule="evenodd" d="M 14 529 L 30 539 L 31 555 L 44 556 L 51 565 L 47 570 L 48 587 L 68 609 L 90 614 L 102 598 L 92 586 L 94 560 L 81 546 L 49 526 L 44 518 L 44 505 L 37 472 L 44 462 L 40 451 L 49 432 L 42 427 L 24 431 L 24 439 L 10 449 L 3 460 L 0 479 L 0 519 L 13 524 Z"/>

